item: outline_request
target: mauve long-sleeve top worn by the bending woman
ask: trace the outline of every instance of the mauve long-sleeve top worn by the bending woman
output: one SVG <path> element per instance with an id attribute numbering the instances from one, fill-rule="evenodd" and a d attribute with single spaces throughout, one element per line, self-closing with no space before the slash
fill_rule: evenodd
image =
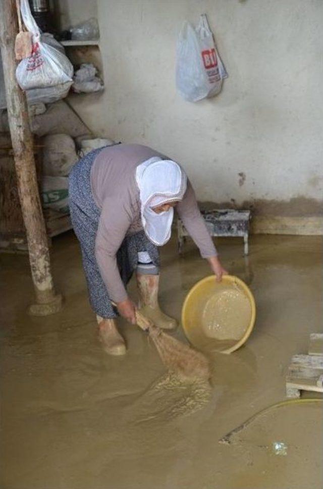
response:
<path id="1" fill-rule="evenodd" d="M 124 301 L 128 297 L 118 270 L 117 252 L 126 235 L 143 229 L 136 168 L 154 156 L 169 159 L 141 144 L 117 144 L 102 149 L 92 165 L 92 193 L 101 210 L 95 239 L 95 259 L 109 297 L 114 302 Z M 201 256 L 216 256 L 216 248 L 189 180 L 184 199 L 176 205 L 176 210 Z"/>

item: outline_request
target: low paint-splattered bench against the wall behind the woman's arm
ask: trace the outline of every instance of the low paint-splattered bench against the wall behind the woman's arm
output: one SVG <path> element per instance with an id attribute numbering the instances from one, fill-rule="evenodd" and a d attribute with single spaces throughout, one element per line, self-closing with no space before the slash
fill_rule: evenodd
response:
<path id="1" fill-rule="evenodd" d="M 211 236 L 243 237 L 244 254 L 248 255 L 248 237 L 250 211 L 237 211 L 235 209 L 214 209 L 201 211 L 205 224 Z M 177 221 L 178 252 L 182 253 L 186 236 L 189 236 L 181 219 Z"/>

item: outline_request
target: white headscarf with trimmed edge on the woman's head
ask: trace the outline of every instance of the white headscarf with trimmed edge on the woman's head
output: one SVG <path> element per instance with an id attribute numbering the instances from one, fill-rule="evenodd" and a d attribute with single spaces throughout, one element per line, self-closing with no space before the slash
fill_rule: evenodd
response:
<path id="1" fill-rule="evenodd" d="M 136 182 L 144 231 L 150 241 L 161 246 L 171 237 L 174 209 L 156 214 L 152 208 L 181 201 L 186 191 L 186 174 L 175 161 L 153 157 L 137 167 Z"/>

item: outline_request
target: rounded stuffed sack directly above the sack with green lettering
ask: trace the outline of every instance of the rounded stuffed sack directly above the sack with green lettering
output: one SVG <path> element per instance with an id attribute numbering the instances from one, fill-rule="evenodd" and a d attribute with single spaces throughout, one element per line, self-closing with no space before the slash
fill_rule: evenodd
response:
<path id="1" fill-rule="evenodd" d="M 78 161 L 75 143 L 67 134 L 51 134 L 41 140 L 42 172 L 51 177 L 68 176 Z"/>

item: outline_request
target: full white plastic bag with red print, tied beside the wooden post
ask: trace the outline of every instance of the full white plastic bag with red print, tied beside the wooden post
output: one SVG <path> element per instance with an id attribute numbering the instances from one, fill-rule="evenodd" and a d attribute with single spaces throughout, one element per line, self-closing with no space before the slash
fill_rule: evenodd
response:
<path id="1" fill-rule="evenodd" d="M 21 0 L 21 15 L 32 33 L 33 50 L 17 66 L 16 78 L 23 90 L 71 82 L 73 65 L 64 53 L 40 40 L 40 30 L 31 15 L 28 0 Z"/>

